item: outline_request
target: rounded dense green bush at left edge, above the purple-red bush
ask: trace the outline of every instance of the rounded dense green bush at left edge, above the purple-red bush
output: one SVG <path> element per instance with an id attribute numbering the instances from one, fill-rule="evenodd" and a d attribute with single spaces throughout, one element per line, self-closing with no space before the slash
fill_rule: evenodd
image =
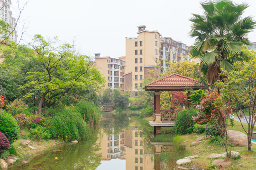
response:
<path id="1" fill-rule="evenodd" d="M 19 137 L 17 121 L 6 111 L 0 113 L 0 131 L 8 138 L 10 144 Z"/>

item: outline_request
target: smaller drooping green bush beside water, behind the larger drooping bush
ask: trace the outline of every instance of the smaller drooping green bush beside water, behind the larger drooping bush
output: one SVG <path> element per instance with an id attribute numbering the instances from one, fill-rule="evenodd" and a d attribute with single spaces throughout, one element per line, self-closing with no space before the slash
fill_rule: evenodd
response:
<path id="1" fill-rule="evenodd" d="M 95 106 L 92 102 L 81 101 L 76 104 L 75 110 L 81 113 L 82 118 L 89 124 L 98 124 L 100 121 L 100 111 L 97 106 Z"/>

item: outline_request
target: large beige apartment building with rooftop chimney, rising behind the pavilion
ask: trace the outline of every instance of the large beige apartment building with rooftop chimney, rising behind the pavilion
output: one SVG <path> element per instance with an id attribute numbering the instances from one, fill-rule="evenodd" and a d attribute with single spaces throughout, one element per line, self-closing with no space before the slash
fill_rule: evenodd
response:
<path id="1" fill-rule="evenodd" d="M 165 72 L 169 61 L 199 62 L 189 57 L 190 47 L 186 44 L 163 37 L 158 31 L 148 31 L 146 26 L 137 27 L 137 37 L 126 37 L 125 90 L 133 91 L 135 97 L 143 79 L 150 72 Z"/>

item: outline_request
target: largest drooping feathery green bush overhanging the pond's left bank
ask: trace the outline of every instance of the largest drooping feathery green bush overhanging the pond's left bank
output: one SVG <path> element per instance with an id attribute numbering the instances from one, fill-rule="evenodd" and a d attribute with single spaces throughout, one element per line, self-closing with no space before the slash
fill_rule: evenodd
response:
<path id="1" fill-rule="evenodd" d="M 73 110 L 63 110 L 56 113 L 52 119 L 46 120 L 46 126 L 52 137 L 63 139 L 65 142 L 80 141 L 91 135 L 81 114 Z"/>

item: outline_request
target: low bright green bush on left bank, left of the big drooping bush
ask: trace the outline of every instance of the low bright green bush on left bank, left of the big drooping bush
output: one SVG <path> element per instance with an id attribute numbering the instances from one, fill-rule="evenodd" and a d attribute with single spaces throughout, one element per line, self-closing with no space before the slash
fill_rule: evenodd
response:
<path id="1" fill-rule="evenodd" d="M 52 137 L 48 127 L 43 127 L 41 125 L 38 125 L 36 128 L 30 128 L 29 132 L 29 136 L 33 139 L 50 139 Z"/>

